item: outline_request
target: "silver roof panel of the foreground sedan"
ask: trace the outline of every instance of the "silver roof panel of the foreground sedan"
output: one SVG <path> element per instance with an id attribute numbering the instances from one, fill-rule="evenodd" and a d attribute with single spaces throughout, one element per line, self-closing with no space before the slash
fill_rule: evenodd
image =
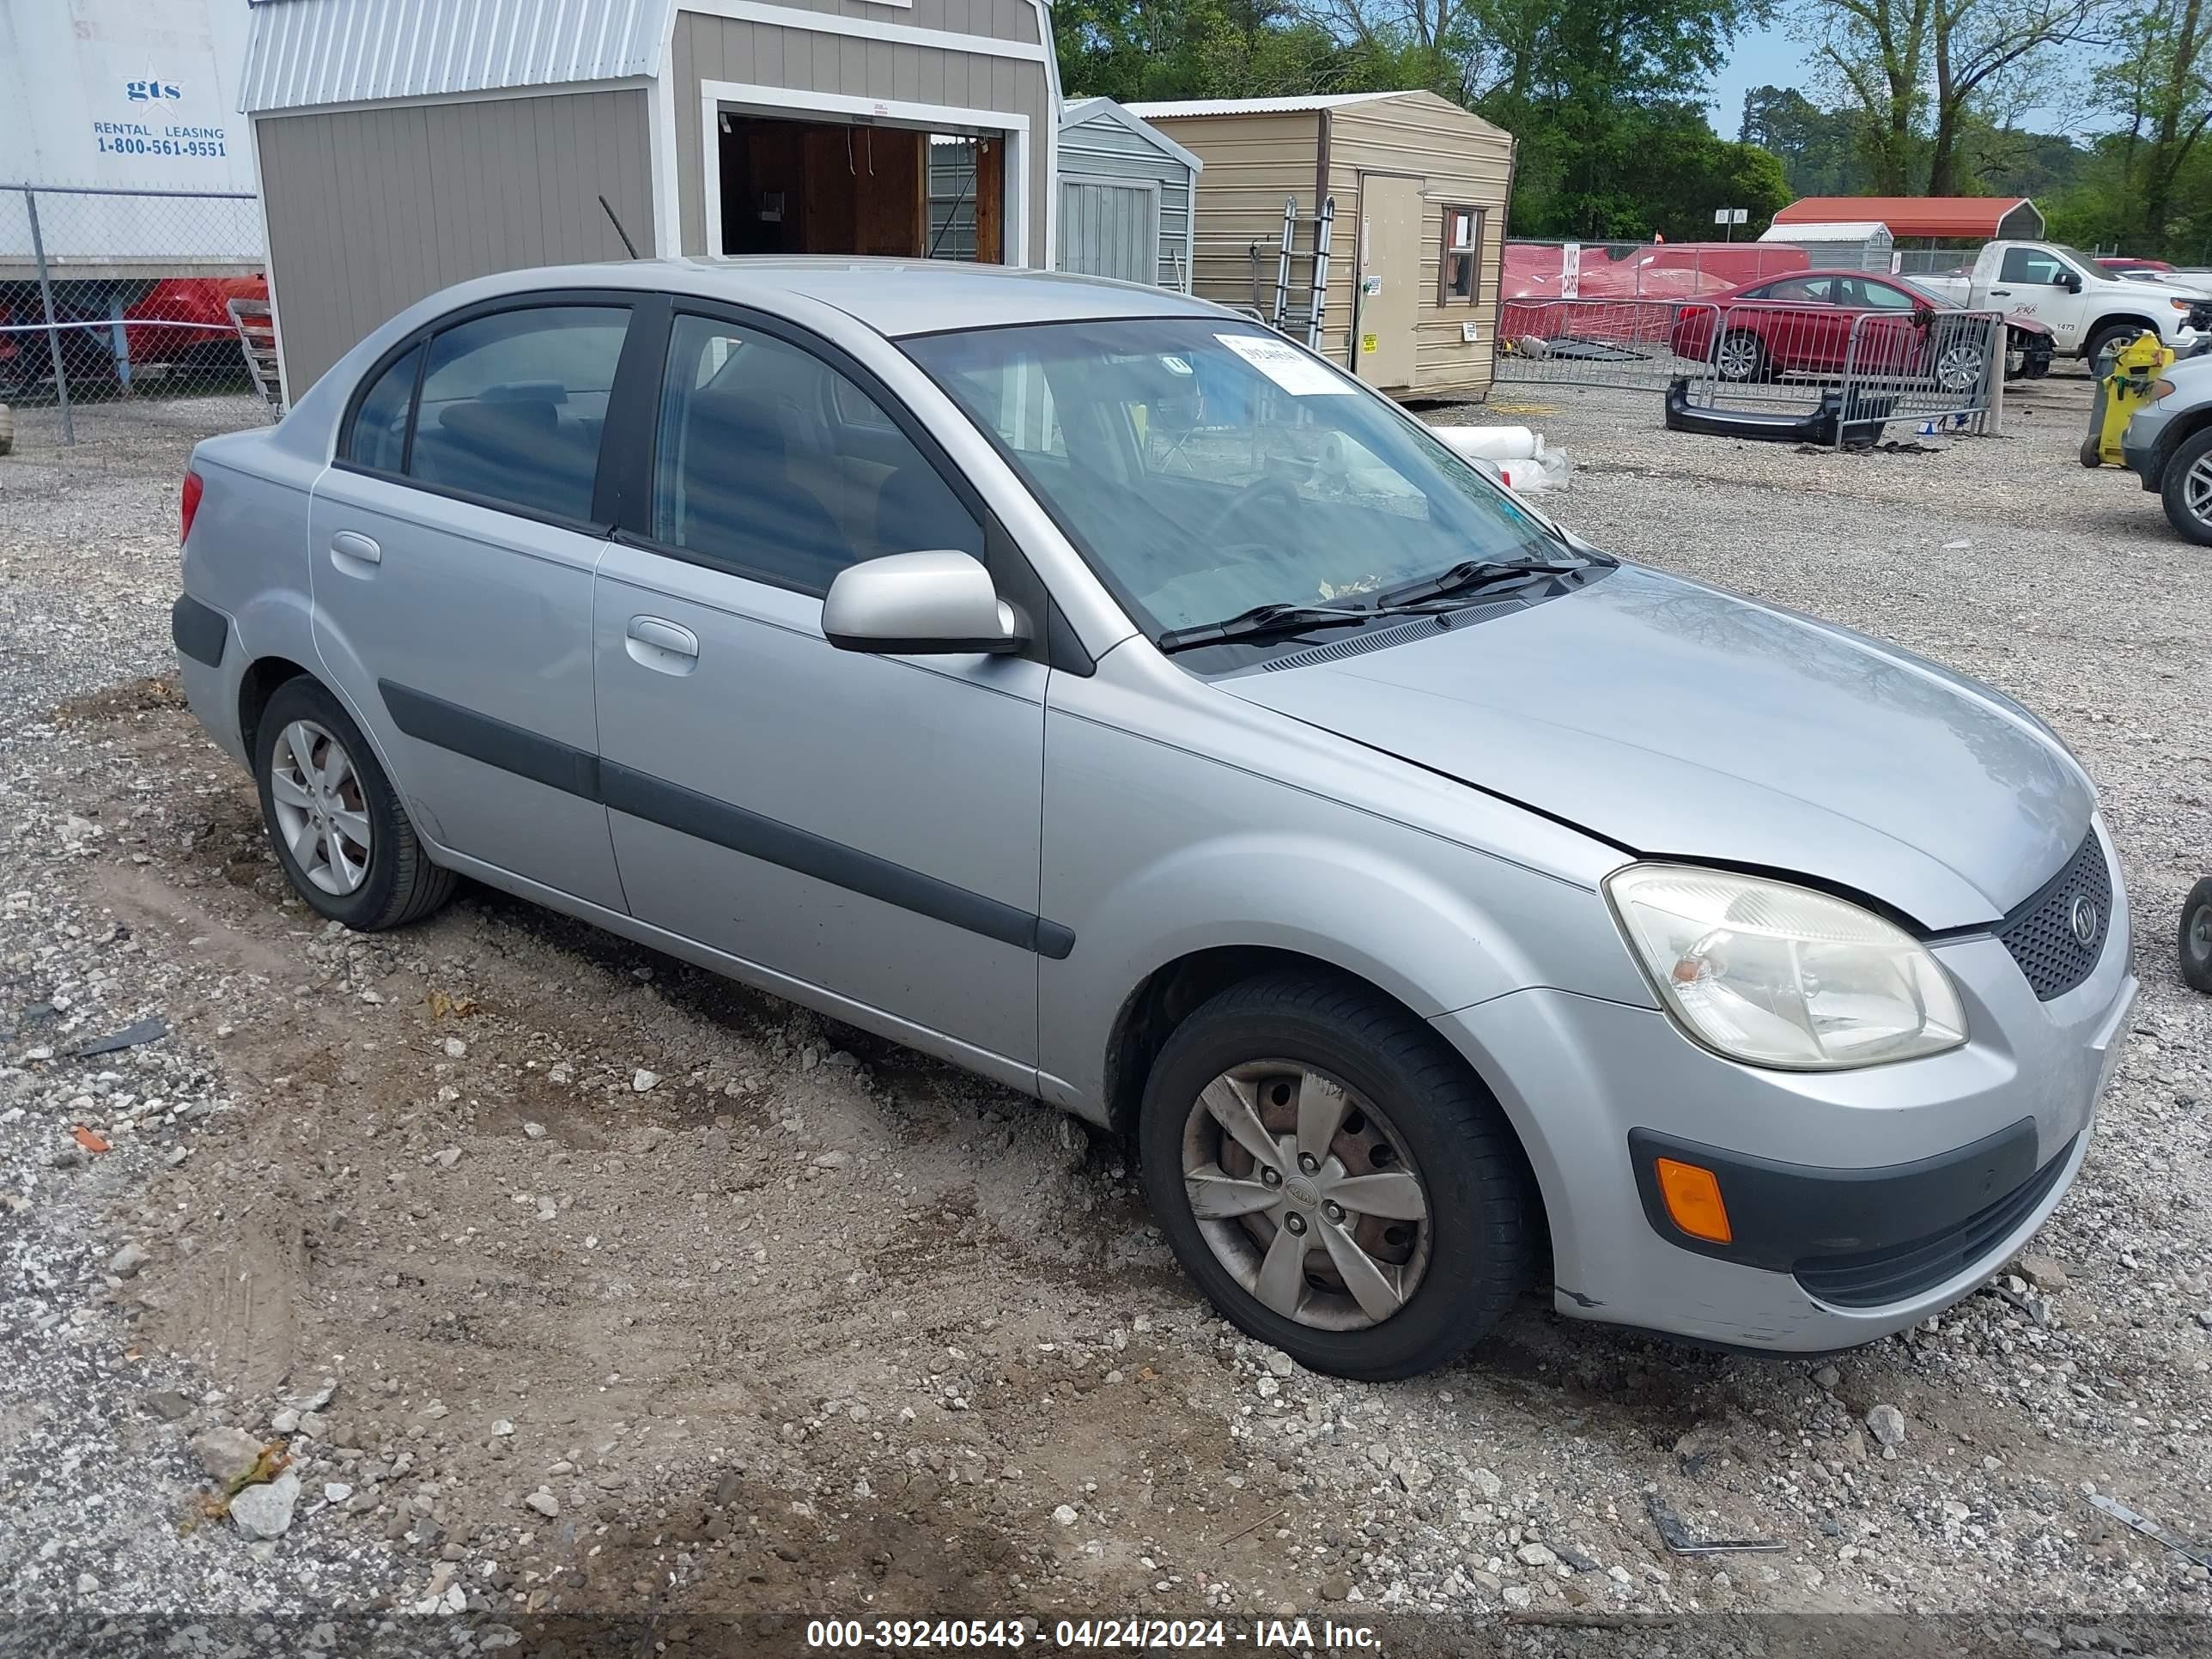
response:
<path id="1" fill-rule="evenodd" d="M 796 294 L 867 323 L 878 334 L 933 334 L 1009 323 L 1113 316 L 1225 316 L 1219 305 L 1144 283 L 945 259 L 734 257 L 637 259 L 608 265 L 504 272 L 511 292 L 615 281 L 732 305 L 774 307 Z"/>

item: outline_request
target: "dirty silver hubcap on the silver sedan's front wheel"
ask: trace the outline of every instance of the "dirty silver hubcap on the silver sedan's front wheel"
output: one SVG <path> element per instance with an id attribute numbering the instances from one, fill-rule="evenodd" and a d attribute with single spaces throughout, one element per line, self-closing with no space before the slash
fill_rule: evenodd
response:
<path id="1" fill-rule="evenodd" d="M 1199 1093 L 1183 1190 L 1237 1283 L 1314 1329 L 1380 1325 L 1429 1270 L 1429 1192 L 1402 1137 L 1294 1060 L 1232 1066 Z"/>

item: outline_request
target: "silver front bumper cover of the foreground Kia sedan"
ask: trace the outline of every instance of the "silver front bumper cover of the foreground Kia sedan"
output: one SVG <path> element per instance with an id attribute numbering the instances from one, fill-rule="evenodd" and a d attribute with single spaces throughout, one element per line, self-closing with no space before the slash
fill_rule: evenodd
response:
<path id="1" fill-rule="evenodd" d="M 2101 825 L 2097 834 L 2112 860 Z M 1657 1009 L 1553 989 L 1438 1018 L 1495 1088 L 1535 1166 L 1559 1312 L 1741 1347 L 1825 1352 L 1905 1329 L 2002 1267 L 2057 1208 L 2086 1157 L 2137 995 L 2126 896 L 2115 883 L 2097 969 L 2051 1002 L 2035 998 L 1995 938 L 1947 942 L 1936 956 L 1966 1000 L 1969 1042 L 1845 1073 L 1743 1066 L 1690 1042 Z M 1882 1179 L 2017 1133 L 2024 1119 L 2033 1119 L 2024 1168 L 2044 1177 L 2026 1192 L 2033 1203 L 2004 1212 L 2002 1230 L 1978 1234 L 1958 1272 L 1880 1305 L 1836 1305 L 1787 1267 L 1701 1254 L 1668 1237 L 1648 1212 L 1630 1150 L 1630 1137 L 1644 1133 L 1809 1175 Z"/>

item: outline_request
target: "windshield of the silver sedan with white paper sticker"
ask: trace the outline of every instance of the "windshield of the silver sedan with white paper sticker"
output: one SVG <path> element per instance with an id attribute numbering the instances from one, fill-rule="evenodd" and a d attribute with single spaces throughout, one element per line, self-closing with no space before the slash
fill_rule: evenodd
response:
<path id="1" fill-rule="evenodd" d="M 969 330 L 905 352 L 991 436 L 1155 637 L 1566 549 L 1473 467 L 1228 316 Z"/>

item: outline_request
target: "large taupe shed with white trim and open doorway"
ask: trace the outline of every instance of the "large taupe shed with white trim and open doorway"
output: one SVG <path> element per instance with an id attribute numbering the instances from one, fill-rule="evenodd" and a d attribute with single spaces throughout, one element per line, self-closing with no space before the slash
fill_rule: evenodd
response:
<path id="1" fill-rule="evenodd" d="M 1053 265 L 1046 0 L 252 0 L 241 84 L 288 396 L 422 294 L 624 237 L 929 257 L 931 139 L 962 257 Z"/>

